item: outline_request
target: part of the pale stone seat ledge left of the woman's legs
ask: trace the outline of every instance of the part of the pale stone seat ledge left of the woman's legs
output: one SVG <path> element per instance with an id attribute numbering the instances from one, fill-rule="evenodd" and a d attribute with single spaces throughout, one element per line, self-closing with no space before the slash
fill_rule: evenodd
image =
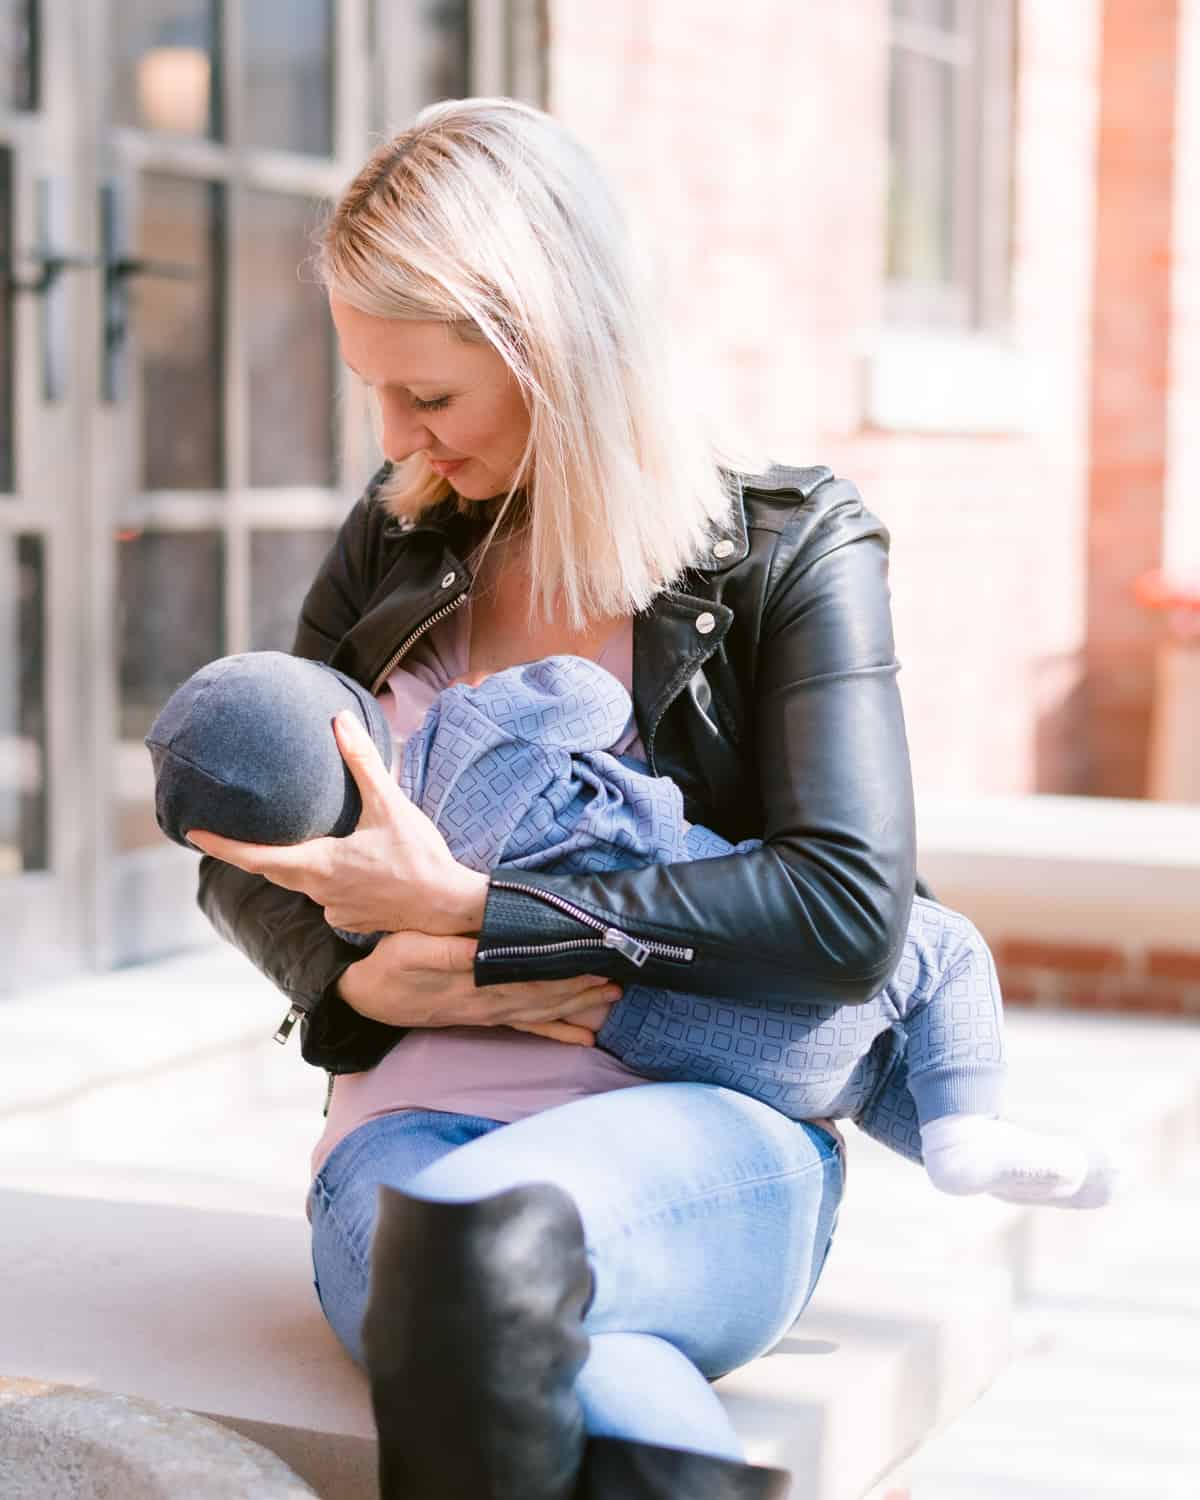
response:
<path id="1" fill-rule="evenodd" d="M 0 1191 L 0 1374 L 182 1407 L 327 1500 L 375 1494 L 364 1380 L 310 1290 L 303 1216 Z"/>

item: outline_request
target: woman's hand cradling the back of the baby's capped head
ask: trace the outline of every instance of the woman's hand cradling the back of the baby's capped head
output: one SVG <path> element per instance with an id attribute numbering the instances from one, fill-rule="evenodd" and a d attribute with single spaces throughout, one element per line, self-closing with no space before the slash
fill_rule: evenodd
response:
<path id="1" fill-rule="evenodd" d="M 303 891 L 324 908 L 330 927 L 352 933 L 474 933 L 483 926 L 488 876 L 450 854 L 424 813 L 404 795 L 351 712 L 333 720 L 338 748 L 363 800 L 345 838 L 252 844 L 189 830 L 206 854 Z"/>

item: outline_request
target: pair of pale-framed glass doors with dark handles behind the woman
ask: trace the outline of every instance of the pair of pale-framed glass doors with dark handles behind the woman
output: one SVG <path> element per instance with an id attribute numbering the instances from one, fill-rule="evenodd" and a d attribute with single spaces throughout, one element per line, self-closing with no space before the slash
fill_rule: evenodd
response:
<path id="1" fill-rule="evenodd" d="M 540 98 L 540 6 L 0 0 L 0 990 L 210 936 L 142 738 L 375 462 L 312 232 L 429 99 Z"/>

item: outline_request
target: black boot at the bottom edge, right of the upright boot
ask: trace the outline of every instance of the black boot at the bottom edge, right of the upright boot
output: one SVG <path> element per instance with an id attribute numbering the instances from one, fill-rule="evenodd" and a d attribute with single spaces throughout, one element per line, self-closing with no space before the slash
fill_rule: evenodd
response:
<path id="1" fill-rule="evenodd" d="M 784 1500 L 792 1476 L 682 1448 L 588 1438 L 576 1500 Z"/>

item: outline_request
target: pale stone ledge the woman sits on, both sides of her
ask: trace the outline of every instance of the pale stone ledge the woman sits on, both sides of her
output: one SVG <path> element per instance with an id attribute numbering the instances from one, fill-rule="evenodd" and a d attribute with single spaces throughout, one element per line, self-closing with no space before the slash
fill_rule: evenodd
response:
<path id="1" fill-rule="evenodd" d="M 303 1220 L 12 1191 L 0 1215 L 9 1368 L 214 1418 L 330 1500 L 370 1500 L 366 1382 L 304 1296 Z M 718 1390 L 796 1500 L 855 1500 L 999 1371 L 1010 1310 L 994 1266 L 831 1262 L 795 1330 Z"/>

